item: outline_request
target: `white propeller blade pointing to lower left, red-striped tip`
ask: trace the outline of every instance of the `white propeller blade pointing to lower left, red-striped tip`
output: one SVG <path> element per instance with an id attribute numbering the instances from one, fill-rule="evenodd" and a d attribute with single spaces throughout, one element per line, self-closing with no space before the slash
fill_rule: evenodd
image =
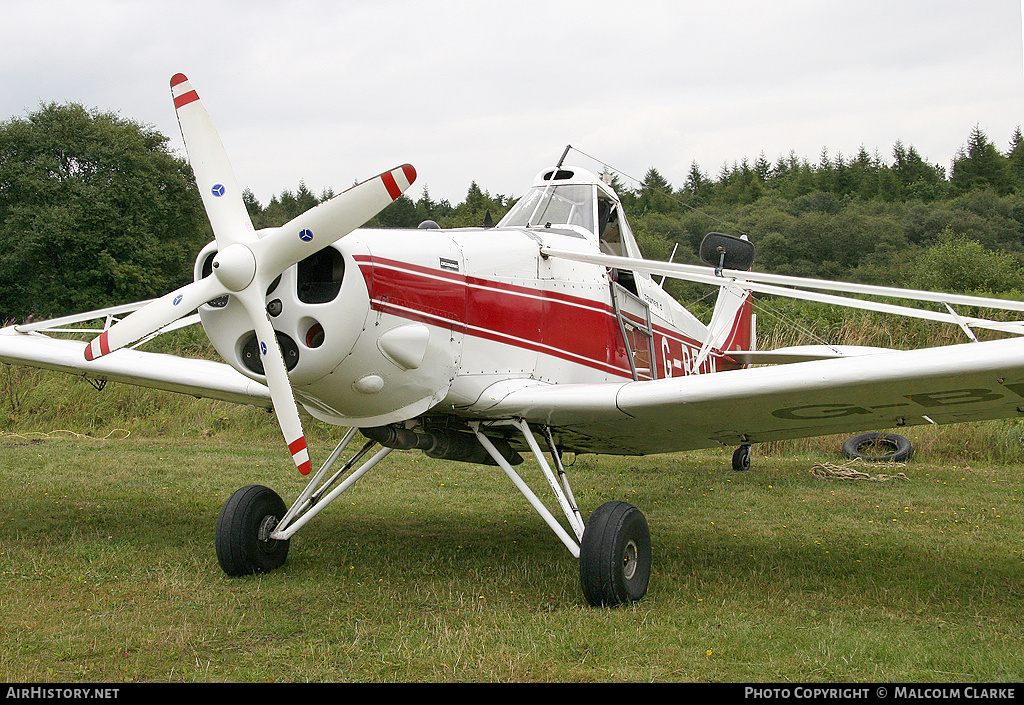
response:
<path id="1" fill-rule="evenodd" d="M 141 340 L 191 313 L 201 304 L 226 293 L 224 285 L 216 277 L 206 277 L 186 284 L 151 301 L 93 338 L 85 346 L 85 359 L 95 360 Z"/>

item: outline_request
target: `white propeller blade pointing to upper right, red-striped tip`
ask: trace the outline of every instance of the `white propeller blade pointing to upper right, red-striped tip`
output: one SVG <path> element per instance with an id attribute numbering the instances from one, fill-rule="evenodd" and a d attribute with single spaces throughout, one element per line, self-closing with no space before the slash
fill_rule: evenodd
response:
<path id="1" fill-rule="evenodd" d="M 355 184 L 251 244 L 260 271 L 276 276 L 377 215 L 416 180 L 411 164 Z"/>

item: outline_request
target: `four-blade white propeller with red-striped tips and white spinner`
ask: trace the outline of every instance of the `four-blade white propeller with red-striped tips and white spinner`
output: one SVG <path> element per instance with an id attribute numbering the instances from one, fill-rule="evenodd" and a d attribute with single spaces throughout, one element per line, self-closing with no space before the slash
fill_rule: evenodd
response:
<path id="1" fill-rule="evenodd" d="M 259 341 L 274 413 L 302 474 L 310 470 L 305 433 L 276 333 L 266 312 L 265 292 L 282 272 L 365 223 L 409 189 L 416 170 L 406 164 L 358 183 L 285 225 L 260 231 L 242 200 L 224 146 L 188 79 L 176 74 L 171 94 L 196 183 L 217 242 L 213 274 L 187 284 L 127 316 L 93 339 L 86 360 L 156 333 L 199 305 L 225 294 L 245 308 Z"/>

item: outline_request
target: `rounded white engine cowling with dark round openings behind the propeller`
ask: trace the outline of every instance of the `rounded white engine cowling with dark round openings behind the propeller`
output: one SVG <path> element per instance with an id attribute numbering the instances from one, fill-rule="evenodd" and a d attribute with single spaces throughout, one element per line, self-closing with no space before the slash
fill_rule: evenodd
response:
<path id="1" fill-rule="evenodd" d="M 374 298 L 375 283 L 384 290 L 400 279 L 392 265 L 379 263 L 395 260 L 375 252 L 401 252 L 412 236 L 360 233 L 368 232 L 353 233 L 282 273 L 266 292 L 266 306 L 297 401 L 323 421 L 372 426 L 412 418 L 443 399 L 461 336 L 451 325 L 389 307 L 386 294 Z M 214 243 L 203 249 L 197 279 L 210 276 L 215 254 Z M 223 296 L 201 305 L 199 314 L 224 361 L 264 381 L 241 303 Z"/>

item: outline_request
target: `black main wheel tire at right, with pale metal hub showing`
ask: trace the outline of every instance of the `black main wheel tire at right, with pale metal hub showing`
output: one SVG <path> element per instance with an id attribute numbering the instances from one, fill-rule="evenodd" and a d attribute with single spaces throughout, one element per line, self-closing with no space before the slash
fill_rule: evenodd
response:
<path id="1" fill-rule="evenodd" d="M 590 515 L 580 545 L 580 582 L 591 606 L 615 607 L 643 597 L 650 565 L 650 532 L 639 509 L 607 502 Z"/>

